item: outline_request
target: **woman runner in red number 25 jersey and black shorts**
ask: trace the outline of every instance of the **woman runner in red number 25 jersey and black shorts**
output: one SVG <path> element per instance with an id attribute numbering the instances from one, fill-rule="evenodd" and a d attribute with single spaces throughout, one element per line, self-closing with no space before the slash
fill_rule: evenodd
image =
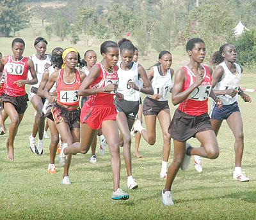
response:
<path id="1" fill-rule="evenodd" d="M 171 187 L 179 168 L 186 170 L 191 155 L 215 159 L 219 156 L 216 135 L 211 128 L 207 114 L 209 96 L 221 107 L 222 103 L 211 87 L 212 70 L 202 66 L 205 58 L 205 44 L 200 38 L 188 41 L 186 50 L 190 61 L 175 74 L 172 89 L 172 103 L 179 104 L 173 115 L 169 133 L 173 138 L 173 161 L 168 168 L 165 187 L 162 191 L 164 205 L 173 205 Z M 196 137 L 202 147 L 191 147 L 186 141 Z"/>

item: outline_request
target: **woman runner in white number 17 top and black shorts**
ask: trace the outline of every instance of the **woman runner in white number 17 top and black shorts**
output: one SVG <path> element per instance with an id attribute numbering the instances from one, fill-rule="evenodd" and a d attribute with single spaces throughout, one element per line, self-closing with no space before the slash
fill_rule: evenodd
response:
<path id="1" fill-rule="evenodd" d="M 171 136 L 168 128 L 171 122 L 170 108 L 168 98 L 172 91 L 172 54 L 166 50 L 160 52 L 158 63 L 148 71 L 148 78 L 151 80 L 154 89 L 154 95 L 147 96 L 143 102 L 143 115 L 145 117 L 146 128 L 141 126 L 141 122 L 137 120 L 134 123 L 134 130 L 140 131 L 143 138 L 150 144 L 156 142 L 156 118 L 161 125 L 163 133 L 163 158 L 160 172 L 161 178 L 167 177 L 167 165 L 170 155 Z"/>

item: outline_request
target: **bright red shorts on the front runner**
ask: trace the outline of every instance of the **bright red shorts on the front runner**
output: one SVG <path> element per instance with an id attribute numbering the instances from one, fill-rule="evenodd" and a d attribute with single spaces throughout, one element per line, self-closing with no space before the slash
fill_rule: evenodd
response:
<path id="1" fill-rule="evenodd" d="M 92 129 L 101 128 L 102 122 L 107 120 L 116 121 L 116 106 L 88 106 L 84 103 L 82 108 L 80 122 L 86 123 Z"/>

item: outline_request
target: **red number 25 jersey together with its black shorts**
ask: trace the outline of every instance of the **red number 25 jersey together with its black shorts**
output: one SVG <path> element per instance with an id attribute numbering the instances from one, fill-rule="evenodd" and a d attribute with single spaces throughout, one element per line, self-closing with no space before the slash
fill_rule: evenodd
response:
<path id="1" fill-rule="evenodd" d="M 196 133 L 200 131 L 212 129 L 210 117 L 207 114 L 212 77 L 209 74 L 209 68 L 207 66 L 202 67 L 205 71 L 204 82 L 189 94 L 188 99 L 179 104 L 168 129 L 171 137 L 179 142 L 184 142 L 192 136 L 195 137 Z M 196 76 L 187 66 L 182 66 L 182 69 L 186 74 L 182 89 L 185 91 L 195 82 Z"/>

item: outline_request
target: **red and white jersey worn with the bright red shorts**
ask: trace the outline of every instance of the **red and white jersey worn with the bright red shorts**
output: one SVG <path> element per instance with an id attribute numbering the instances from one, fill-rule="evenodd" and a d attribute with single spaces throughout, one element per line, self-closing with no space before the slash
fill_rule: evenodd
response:
<path id="1" fill-rule="evenodd" d="M 97 77 L 92 84 L 90 89 L 106 87 L 109 84 L 116 84 L 118 82 L 117 67 L 113 67 L 113 73 L 109 73 L 105 70 L 102 64 L 96 64 L 100 67 L 100 75 Z M 99 92 L 90 96 L 87 105 L 96 105 L 96 106 L 109 106 L 114 102 L 115 92 Z"/>

